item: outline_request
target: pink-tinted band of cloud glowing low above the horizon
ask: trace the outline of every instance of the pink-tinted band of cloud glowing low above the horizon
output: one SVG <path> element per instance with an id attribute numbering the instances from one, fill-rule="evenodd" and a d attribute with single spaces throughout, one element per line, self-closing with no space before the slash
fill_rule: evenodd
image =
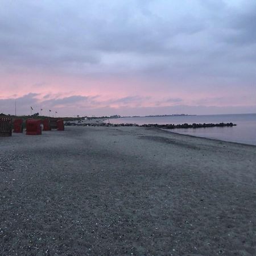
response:
<path id="1" fill-rule="evenodd" d="M 24 114 L 28 114 L 30 104 L 34 104 L 37 109 L 55 108 L 63 115 L 77 112 L 90 115 L 100 111 L 104 115 L 106 109 L 117 114 L 125 113 L 124 109 L 130 109 L 134 113 L 136 108 L 160 111 L 162 108 L 179 105 L 206 107 L 256 105 L 255 95 L 248 94 L 243 88 L 237 88 L 233 94 L 222 88 L 215 91 L 200 88 L 199 85 L 189 87 L 183 84 L 183 81 L 172 84 L 168 80 L 150 80 L 141 76 L 53 75 L 51 72 L 34 70 L 31 73 L 12 72 L 2 75 L 0 100 L 22 98 L 24 108 L 20 106 L 20 112 L 23 111 Z M 30 101 L 26 102 L 26 98 Z M 1 108 L 6 112 L 12 112 L 13 104 Z"/>

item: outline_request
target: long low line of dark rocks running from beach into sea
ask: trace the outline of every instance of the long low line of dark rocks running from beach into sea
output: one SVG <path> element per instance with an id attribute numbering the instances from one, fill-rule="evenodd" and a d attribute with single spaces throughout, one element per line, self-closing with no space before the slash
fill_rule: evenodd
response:
<path id="1" fill-rule="evenodd" d="M 149 123 L 148 125 L 137 125 L 136 123 L 72 123 L 66 122 L 66 126 L 112 126 L 112 127 L 119 127 L 119 126 L 139 126 L 139 127 L 158 127 L 162 129 L 180 129 L 180 128 L 206 128 L 206 127 L 232 127 L 236 126 L 234 123 L 193 123 L 192 125 L 188 125 L 188 123 L 183 123 L 183 125 L 158 125 L 157 123 Z"/>

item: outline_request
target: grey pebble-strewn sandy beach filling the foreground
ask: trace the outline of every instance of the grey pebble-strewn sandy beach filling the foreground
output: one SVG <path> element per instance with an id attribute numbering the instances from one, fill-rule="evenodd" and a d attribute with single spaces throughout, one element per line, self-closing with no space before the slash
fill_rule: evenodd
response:
<path id="1" fill-rule="evenodd" d="M 0 138 L 0 255 L 256 255 L 256 147 L 143 127 Z"/>

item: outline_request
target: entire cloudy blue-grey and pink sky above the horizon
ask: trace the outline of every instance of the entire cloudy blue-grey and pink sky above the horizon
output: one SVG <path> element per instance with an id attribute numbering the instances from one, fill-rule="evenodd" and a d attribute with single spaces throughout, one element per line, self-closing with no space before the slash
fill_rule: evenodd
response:
<path id="1" fill-rule="evenodd" d="M 255 0 L 0 6 L 0 113 L 256 113 Z"/>

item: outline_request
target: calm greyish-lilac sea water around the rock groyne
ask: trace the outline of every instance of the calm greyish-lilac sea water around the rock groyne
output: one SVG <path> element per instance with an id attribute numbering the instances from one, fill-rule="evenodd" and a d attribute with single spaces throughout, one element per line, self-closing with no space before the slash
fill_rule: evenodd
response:
<path id="1" fill-rule="evenodd" d="M 233 127 L 209 127 L 198 129 L 174 129 L 172 132 L 189 134 L 197 137 L 220 139 L 256 145 L 256 114 L 232 114 L 232 115 L 188 115 L 180 117 L 131 117 L 110 119 L 111 123 L 137 123 L 143 125 L 147 123 L 236 123 Z"/>

